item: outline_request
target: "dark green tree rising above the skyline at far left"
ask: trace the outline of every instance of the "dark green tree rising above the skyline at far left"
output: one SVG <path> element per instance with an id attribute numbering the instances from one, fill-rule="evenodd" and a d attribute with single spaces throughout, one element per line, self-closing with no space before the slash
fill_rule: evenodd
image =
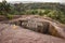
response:
<path id="1" fill-rule="evenodd" d="M 11 10 L 10 3 L 8 3 L 5 0 L 1 3 L 1 11 L 3 12 L 3 15 L 6 15 Z"/>

